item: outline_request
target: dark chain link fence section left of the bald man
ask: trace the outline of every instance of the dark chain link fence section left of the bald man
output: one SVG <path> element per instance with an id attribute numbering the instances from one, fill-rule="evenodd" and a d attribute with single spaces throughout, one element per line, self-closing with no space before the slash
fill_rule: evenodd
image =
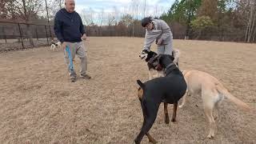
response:
<path id="1" fill-rule="evenodd" d="M 54 26 L 0 22 L 0 51 L 50 46 L 52 40 Z"/>

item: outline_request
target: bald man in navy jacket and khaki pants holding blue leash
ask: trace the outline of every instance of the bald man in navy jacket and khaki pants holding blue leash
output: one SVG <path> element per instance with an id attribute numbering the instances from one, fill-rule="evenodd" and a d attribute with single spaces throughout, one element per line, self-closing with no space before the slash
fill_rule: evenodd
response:
<path id="1" fill-rule="evenodd" d="M 90 79 L 90 76 L 86 74 L 86 47 L 82 42 L 82 40 L 86 40 L 86 32 L 82 25 L 81 17 L 74 11 L 74 0 L 65 0 L 65 8 L 58 10 L 54 18 L 54 32 L 58 40 L 62 42 L 65 61 L 70 73 L 70 81 L 75 82 L 77 74 L 74 69 L 72 70 L 69 67 L 70 59 L 69 54 L 66 51 L 66 46 L 70 49 L 70 54 L 73 60 L 76 54 L 78 55 L 78 58 L 81 59 L 80 77 Z"/>

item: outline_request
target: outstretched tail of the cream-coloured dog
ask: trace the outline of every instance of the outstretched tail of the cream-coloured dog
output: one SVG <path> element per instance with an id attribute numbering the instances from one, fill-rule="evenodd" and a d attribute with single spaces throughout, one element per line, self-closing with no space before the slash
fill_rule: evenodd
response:
<path id="1" fill-rule="evenodd" d="M 217 85 L 217 90 L 220 94 L 223 94 L 226 98 L 228 98 L 231 102 L 234 102 L 236 105 L 241 107 L 243 110 L 250 110 L 250 107 L 245 103 L 235 98 L 224 86 Z"/>

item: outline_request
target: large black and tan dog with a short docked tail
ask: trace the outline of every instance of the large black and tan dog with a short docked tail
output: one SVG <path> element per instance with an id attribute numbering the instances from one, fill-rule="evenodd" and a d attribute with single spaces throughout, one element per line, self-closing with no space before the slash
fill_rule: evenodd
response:
<path id="1" fill-rule="evenodd" d="M 135 143 L 140 143 L 145 134 L 150 142 L 156 142 L 154 138 L 150 136 L 149 130 L 157 117 L 161 102 L 164 102 L 166 123 L 169 123 L 167 104 L 174 104 L 172 122 L 175 122 L 178 100 L 186 93 L 186 82 L 182 72 L 178 70 L 178 67 L 173 61 L 174 57 L 170 55 L 157 55 L 153 60 L 150 60 L 150 65 L 155 68 L 162 67 L 166 76 L 154 78 L 145 83 L 139 80 L 137 81 L 140 86 L 138 88 L 138 98 L 141 102 L 144 122 L 140 133 L 134 140 Z"/>

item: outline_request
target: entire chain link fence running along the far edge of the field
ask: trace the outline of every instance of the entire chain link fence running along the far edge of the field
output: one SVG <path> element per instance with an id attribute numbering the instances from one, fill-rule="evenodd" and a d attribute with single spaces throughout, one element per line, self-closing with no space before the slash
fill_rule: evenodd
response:
<path id="1" fill-rule="evenodd" d="M 173 23 L 170 25 L 174 39 L 184 39 L 186 26 Z M 202 34 L 190 33 L 190 39 L 210 40 L 222 42 L 245 42 L 244 29 L 220 32 L 219 30 L 205 30 Z M 144 37 L 145 30 L 136 23 L 131 26 L 86 26 L 87 36 L 124 36 Z M 20 50 L 38 46 L 50 46 L 51 41 L 57 42 L 54 26 L 36 25 L 15 22 L 0 22 L 0 52 Z M 256 42 L 253 38 L 252 42 Z"/>

